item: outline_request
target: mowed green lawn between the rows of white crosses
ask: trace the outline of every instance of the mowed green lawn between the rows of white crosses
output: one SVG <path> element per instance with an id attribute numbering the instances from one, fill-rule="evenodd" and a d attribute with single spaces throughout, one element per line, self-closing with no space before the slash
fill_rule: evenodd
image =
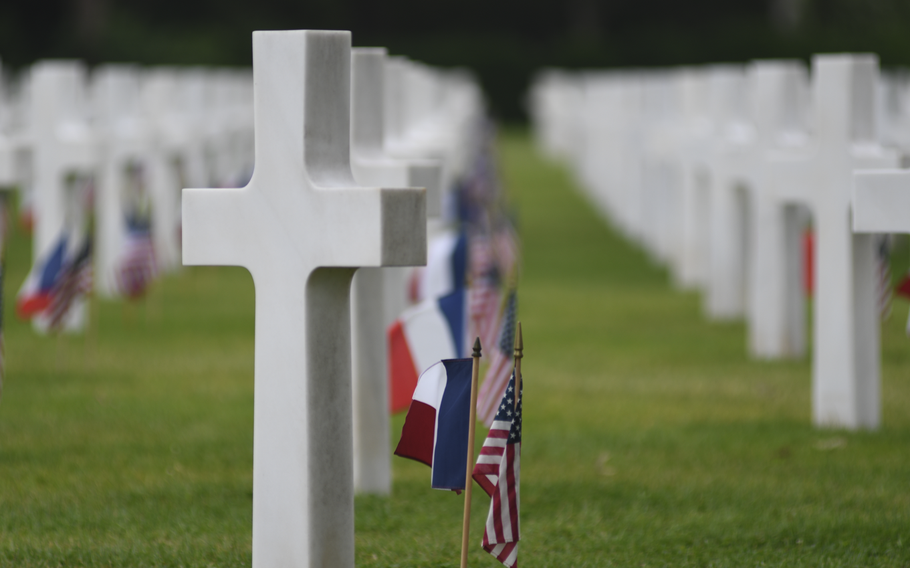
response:
<path id="1" fill-rule="evenodd" d="M 816 430 L 808 359 L 749 360 L 744 326 L 706 322 L 527 136 L 499 149 L 524 245 L 520 564 L 910 566 L 908 304 L 883 328 L 882 429 Z M 250 276 L 184 269 L 39 337 L 12 316 L 29 258 L 17 232 L 0 566 L 249 566 Z M 462 498 L 394 467 L 392 497 L 357 498 L 357 564 L 457 566 Z M 488 503 L 475 490 L 473 566 L 498 565 Z"/>

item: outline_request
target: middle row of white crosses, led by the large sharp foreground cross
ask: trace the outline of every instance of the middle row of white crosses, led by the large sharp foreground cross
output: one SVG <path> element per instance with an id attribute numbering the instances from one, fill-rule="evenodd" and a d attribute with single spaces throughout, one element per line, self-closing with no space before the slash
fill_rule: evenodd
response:
<path id="1" fill-rule="evenodd" d="M 435 132 L 398 132 L 426 146 L 391 144 L 389 118 L 409 111 L 388 112 L 406 101 L 387 96 L 402 81 L 389 70 L 404 62 L 380 49 L 352 59 L 350 41 L 255 32 L 253 177 L 183 192 L 184 263 L 243 266 L 255 282 L 258 567 L 353 566 L 355 488 L 387 493 L 391 481 L 383 287 L 395 277 L 380 267 L 426 262 L 440 180 L 468 152 L 446 144 L 472 139 L 471 125 L 434 120 Z M 458 107 L 471 92 L 429 106 Z M 469 120 L 480 107 L 462 110 Z M 424 182 L 429 193 L 413 187 Z"/>

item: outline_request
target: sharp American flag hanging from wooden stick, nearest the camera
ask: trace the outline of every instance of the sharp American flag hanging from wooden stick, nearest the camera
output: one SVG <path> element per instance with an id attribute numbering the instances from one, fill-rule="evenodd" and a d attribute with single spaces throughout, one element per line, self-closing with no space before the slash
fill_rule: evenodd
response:
<path id="1" fill-rule="evenodd" d="M 512 373 L 472 475 L 492 498 L 483 531 L 483 549 L 510 568 L 518 560 L 520 473 L 521 393 L 516 405 Z"/>

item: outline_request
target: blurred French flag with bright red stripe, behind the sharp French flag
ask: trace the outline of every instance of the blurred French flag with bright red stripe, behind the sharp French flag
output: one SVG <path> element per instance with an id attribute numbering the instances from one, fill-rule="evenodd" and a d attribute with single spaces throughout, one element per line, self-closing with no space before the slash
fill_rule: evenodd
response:
<path id="1" fill-rule="evenodd" d="M 417 378 L 433 363 L 463 357 L 467 345 L 464 288 L 408 308 L 388 329 L 389 394 L 393 413 L 411 404 Z"/>

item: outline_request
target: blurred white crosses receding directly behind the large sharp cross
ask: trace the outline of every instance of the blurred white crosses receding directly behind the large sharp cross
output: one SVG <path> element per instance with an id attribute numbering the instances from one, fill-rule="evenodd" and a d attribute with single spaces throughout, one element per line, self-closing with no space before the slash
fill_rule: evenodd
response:
<path id="1" fill-rule="evenodd" d="M 353 50 L 351 167 L 365 186 L 427 190 L 427 237 L 451 229 L 453 181 L 478 147 L 476 83 L 381 48 Z M 393 126 L 394 125 L 394 126 Z M 443 214 L 443 202 L 449 210 Z M 362 268 L 352 285 L 354 487 L 391 491 L 386 328 L 408 305 L 406 268 Z"/>

